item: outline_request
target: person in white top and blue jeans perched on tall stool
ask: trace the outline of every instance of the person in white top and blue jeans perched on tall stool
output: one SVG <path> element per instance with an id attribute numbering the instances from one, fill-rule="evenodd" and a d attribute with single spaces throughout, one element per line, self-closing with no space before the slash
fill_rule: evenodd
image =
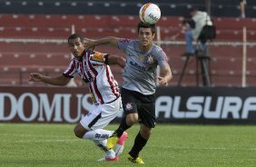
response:
<path id="1" fill-rule="evenodd" d="M 185 56 L 196 54 L 196 49 L 192 42 L 199 42 L 199 50 L 204 51 L 206 48 L 206 42 L 198 41 L 198 37 L 201 34 L 202 27 L 204 25 L 212 25 L 212 20 L 206 12 L 199 11 L 196 8 L 192 8 L 190 12 L 191 18 L 183 22 L 185 28 L 185 41 L 186 41 L 186 52 Z"/>

